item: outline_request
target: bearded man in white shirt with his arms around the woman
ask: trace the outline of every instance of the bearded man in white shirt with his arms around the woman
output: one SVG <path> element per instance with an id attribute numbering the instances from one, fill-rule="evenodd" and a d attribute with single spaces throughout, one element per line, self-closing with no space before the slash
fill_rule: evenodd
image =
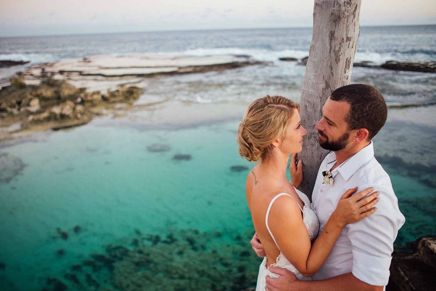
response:
<path id="1" fill-rule="evenodd" d="M 330 150 L 321 163 L 313 188 L 313 211 L 321 233 L 342 193 L 375 187 L 380 191 L 377 210 L 342 229 L 330 256 L 314 281 L 298 281 L 290 271 L 270 267 L 280 277 L 266 277 L 266 291 L 290 290 L 383 290 L 388 284 L 393 243 L 405 219 L 388 174 L 375 160 L 371 139 L 385 124 L 388 110 L 380 92 L 364 84 L 334 90 L 315 127 L 320 146 Z M 323 171 L 331 171 L 333 185 L 324 182 Z M 327 179 L 326 179 L 327 181 Z M 263 257 L 262 244 L 252 239 L 255 252 Z"/>

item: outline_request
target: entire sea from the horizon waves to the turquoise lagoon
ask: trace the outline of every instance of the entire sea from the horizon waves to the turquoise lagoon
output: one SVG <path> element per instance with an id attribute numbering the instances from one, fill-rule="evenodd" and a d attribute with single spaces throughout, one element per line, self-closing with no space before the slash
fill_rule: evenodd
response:
<path id="1" fill-rule="evenodd" d="M 260 259 L 249 244 L 254 229 L 244 189 L 254 165 L 238 156 L 238 123 L 266 94 L 300 99 L 305 67 L 278 58 L 306 57 L 311 34 L 283 28 L 0 38 L 0 60 L 28 65 L 133 54 L 269 62 L 146 78 L 130 110 L 1 142 L 0 290 L 255 285 Z M 436 25 L 361 27 L 355 60 L 436 61 Z M 0 83 L 26 66 L 0 68 Z M 436 74 L 355 67 L 351 82 L 375 86 L 388 103 L 375 156 L 406 217 L 395 248 L 410 250 L 419 236 L 436 234 Z M 149 99 L 159 102 L 143 106 Z"/>

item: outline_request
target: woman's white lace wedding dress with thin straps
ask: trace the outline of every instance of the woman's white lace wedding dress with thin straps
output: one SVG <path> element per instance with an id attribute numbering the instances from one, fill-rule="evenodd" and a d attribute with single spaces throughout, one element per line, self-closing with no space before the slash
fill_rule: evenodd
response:
<path id="1" fill-rule="evenodd" d="M 298 205 L 301 209 L 301 212 L 303 212 L 303 222 L 304 225 L 307 227 L 307 232 L 309 233 L 309 237 L 310 240 L 313 241 L 313 239 L 317 236 L 318 233 L 318 229 L 320 227 L 320 224 L 318 222 L 318 218 L 315 215 L 315 212 L 313 212 L 312 210 L 312 206 L 310 205 L 310 200 L 309 198 L 307 198 L 306 195 L 304 195 L 303 192 L 298 191 L 297 189 L 295 189 L 295 191 L 297 192 L 298 196 L 300 197 L 301 201 L 304 202 L 304 206 L 303 209 L 301 209 L 300 205 Z M 274 240 L 274 242 L 277 245 L 276 240 L 274 239 L 274 236 L 271 233 L 271 230 L 269 230 L 269 226 L 268 226 L 268 216 L 269 216 L 269 210 L 271 209 L 272 203 L 274 203 L 274 201 L 276 201 L 277 198 L 279 198 L 282 195 L 288 195 L 290 197 L 292 197 L 289 194 L 286 193 L 280 193 L 279 195 L 277 195 L 276 197 L 274 197 L 271 202 L 269 203 L 269 207 L 268 210 L 266 212 L 266 218 L 265 218 L 265 223 L 266 223 L 266 228 L 269 231 L 269 234 L 271 235 L 272 239 Z M 292 197 L 293 198 L 293 197 Z M 294 199 L 294 198 L 293 198 Z M 277 246 L 278 247 L 278 246 Z M 272 264 L 272 266 L 274 267 L 280 267 L 280 268 L 284 268 L 287 270 L 290 270 L 293 274 L 296 275 L 296 277 L 298 278 L 298 280 L 302 280 L 302 281 L 310 281 L 312 280 L 312 277 L 304 277 L 286 258 L 285 256 L 283 256 L 283 253 L 280 252 L 279 257 L 277 257 L 276 263 Z M 256 286 L 256 291 L 265 291 L 265 277 L 266 275 L 269 275 L 269 277 L 272 278 L 277 278 L 279 277 L 279 275 L 271 273 L 267 268 L 266 268 L 266 257 L 263 258 L 262 264 L 260 264 L 259 267 L 259 276 L 257 277 L 257 286 Z"/>

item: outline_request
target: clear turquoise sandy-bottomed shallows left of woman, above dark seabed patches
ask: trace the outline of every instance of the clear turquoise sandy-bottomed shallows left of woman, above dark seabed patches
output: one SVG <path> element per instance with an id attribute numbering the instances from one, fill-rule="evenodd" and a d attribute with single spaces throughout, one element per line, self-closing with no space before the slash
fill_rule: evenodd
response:
<path id="1" fill-rule="evenodd" d="M 3 284 L 24 290 L 44 283 L 139 232 L 219 231 L 225 242 L 251 229 L 244 195 L 249 165 L 235 151 L 236 126 L 141 131 L 91 123 L 3 148 L 26 164 L 0 188 Z M 170 150 L 148 151 L 153 144 Z M 191 159 L 175 160 L 176 154 Z M 235 165 L 247 168 L 232 171 Z"/>

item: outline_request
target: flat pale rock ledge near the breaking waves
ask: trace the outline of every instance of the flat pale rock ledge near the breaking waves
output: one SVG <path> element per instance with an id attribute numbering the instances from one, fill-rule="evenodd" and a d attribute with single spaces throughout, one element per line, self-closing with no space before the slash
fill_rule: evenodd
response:
<path id="1" fill-rule="evenodd" d="M 91 56 L 32 65 L 20 72 L 20 77 L 24 80 L 154 77 L 221 71 L 260 63 L 249 56 L 237 55 L 204 57 L 180 55 Z"/>

